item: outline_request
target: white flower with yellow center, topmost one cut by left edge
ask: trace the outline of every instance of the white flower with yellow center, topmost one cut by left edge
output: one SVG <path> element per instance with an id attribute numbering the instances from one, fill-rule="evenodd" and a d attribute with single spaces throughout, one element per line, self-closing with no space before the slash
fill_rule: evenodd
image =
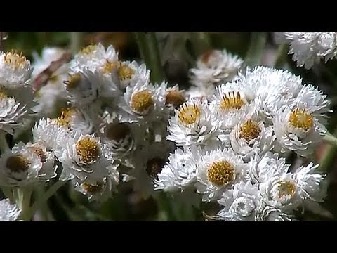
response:
<path id="1" fill-rule="evenodd" d="M 32 67 L 29 60 L 18 53 L 0 51 L 0 85 L 18 89 L 29 84 Z"/>

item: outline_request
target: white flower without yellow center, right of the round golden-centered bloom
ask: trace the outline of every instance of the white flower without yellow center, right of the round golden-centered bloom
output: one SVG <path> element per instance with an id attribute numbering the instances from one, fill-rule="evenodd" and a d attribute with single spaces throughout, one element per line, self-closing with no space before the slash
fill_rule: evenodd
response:
<path id="1" fill-rule="evenodd" d="M 290 164 L 286 164 L 284 157 L 277 153 L 267 152 L 260 156 L 256 153 L 249 161 L 249 176 L 253 183 L 263 183 L 274 176 L 282 175 L 289 171 Z"/>

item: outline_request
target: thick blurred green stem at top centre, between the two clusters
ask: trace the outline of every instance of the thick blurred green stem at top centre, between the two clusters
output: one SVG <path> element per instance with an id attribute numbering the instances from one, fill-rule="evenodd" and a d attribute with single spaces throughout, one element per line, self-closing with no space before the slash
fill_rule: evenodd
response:
<path id="1" fill-rule="evenodd" d="M 140 56 L 147 67 L 151 70 L 150 79 L 152 83 L 164 81 L 164 70 L 161 67 L 159 47 L 154 32 L 135 32 Z"/>

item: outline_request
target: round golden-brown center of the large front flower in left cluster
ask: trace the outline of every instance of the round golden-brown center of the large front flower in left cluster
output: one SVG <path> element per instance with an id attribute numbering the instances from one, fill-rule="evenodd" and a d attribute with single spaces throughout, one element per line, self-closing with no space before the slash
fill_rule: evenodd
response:
<path id="1" fill-rule="evenodd" d="M 94 138 L 81 138 L 76 143 L 76 151 L 82 164 L 91 164 L 100 157 L 100 146 Z"/>

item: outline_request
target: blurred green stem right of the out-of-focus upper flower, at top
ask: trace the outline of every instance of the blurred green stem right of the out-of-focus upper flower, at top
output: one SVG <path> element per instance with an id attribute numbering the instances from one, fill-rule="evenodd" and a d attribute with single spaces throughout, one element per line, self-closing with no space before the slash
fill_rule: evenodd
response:
<path id="1" fill-rule="evenodd" d="M 252 32 L 251 43 L 246 53 L 246 64 L 253 67 L 260 65 L 265 49 L 265 43 L 267 41 L 266 32 Z"/>

